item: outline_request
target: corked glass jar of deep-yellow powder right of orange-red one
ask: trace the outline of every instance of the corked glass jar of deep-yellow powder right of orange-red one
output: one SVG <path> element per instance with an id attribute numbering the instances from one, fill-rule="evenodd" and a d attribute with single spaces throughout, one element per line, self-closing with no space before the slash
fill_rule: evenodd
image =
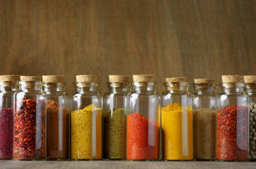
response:
<path id="1" fill-rule="evenodd" d="M 166 78 L 161 94 L 162 159 L 193 160 L 192 97 L 186 78 Z"/>

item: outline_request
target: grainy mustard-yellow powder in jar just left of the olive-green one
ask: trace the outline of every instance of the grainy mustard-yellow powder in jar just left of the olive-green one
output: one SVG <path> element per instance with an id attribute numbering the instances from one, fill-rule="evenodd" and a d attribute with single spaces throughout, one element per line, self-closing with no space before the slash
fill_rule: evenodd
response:
<path id="1" fill-rule="evenodd" d="M 93 104 L 71 112 L 71 158 L 102 158 L 102 112 Z"/>

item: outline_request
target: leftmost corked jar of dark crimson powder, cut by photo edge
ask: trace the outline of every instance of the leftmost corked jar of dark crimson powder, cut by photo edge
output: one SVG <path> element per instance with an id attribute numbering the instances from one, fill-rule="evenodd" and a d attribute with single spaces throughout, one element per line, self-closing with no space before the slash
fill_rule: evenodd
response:
<path id="1" fill-rule="evenodd" d="M 19 75 L 0 76 L 0 159 L 12 159 L 13 96 L 19 89 Z"/>

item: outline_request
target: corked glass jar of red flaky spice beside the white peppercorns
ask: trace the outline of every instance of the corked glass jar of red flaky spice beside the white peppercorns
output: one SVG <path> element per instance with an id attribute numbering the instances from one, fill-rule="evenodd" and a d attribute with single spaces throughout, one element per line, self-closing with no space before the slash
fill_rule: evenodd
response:
<path id="1" fill-rule="evenodd" d="M 222 75 L 218 94 L 217 160 L 248 160 L 248 94 L 244 77 Z"/>

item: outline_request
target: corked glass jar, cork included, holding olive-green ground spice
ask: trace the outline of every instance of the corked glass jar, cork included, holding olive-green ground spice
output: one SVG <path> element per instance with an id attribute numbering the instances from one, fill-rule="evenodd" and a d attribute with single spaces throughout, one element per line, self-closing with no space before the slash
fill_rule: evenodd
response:
<path id="1" fill-rule="evenodd" d="M 104 158 L 126 158 L 126 114 L 130 77 L 109 75 L 104 94 Z"/>

